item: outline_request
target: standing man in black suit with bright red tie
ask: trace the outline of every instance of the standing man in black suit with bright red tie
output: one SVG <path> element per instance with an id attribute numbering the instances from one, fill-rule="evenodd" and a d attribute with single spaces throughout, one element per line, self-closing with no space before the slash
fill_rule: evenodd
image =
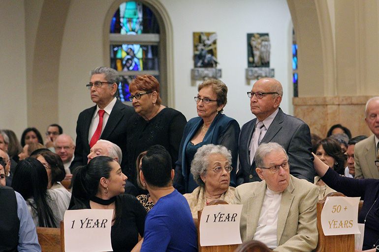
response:
<path id="1" fill-rule="evenodd" d="M 118 78 L 117 71 L 109 67 L 97 67 L 91 71 L 91 81 L 87 87 L 91 90 L 91 100 L 96 105 L 79 114 L 71 171 L 75 167 L 87 164 L 87 155 L 98 139 L 111 141 L 121 148 L 123 152 L 121 167 L 124 168 L 126 125 L 134 109 L 116 98 Z"/>

